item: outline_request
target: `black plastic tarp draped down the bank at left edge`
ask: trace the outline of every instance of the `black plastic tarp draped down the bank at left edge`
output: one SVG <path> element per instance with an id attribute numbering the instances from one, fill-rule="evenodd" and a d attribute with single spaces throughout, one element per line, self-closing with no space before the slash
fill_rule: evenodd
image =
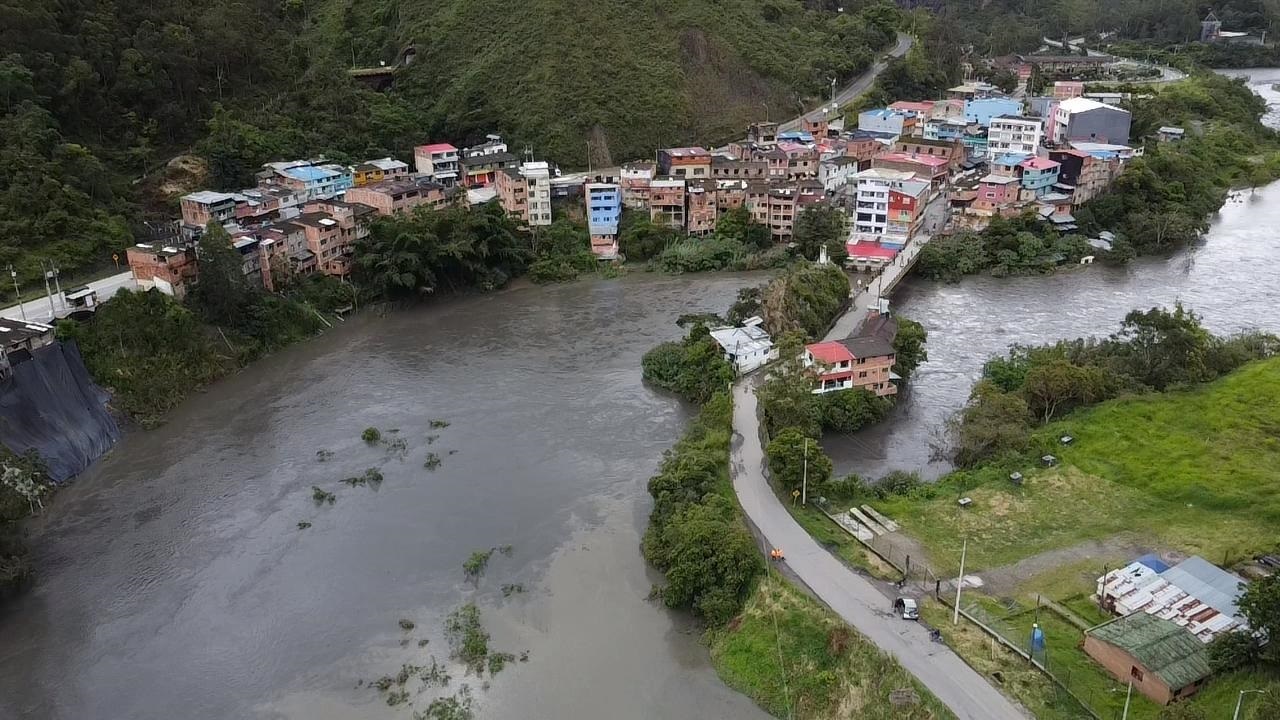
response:
<path id="1" fill-rule="evenodd" d="M 73 478 L 120 437 L 108 398 L 74 343 L 41 347 L 0 382 L 0 445 L 38 452 L 55 483 Z"/>

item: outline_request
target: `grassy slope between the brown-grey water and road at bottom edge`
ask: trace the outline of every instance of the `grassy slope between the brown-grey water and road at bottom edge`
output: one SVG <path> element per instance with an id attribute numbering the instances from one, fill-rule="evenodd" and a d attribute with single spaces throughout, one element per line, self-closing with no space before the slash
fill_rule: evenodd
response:
<path id="1" fill-rule="evenodd" d="M 773 573 L 760 580 L 741 618 L 709 638 L 719 676 L 776 717 L 955 717 L 895 660 Z M 895 691 L 913 701 L 895 705 Z"/>

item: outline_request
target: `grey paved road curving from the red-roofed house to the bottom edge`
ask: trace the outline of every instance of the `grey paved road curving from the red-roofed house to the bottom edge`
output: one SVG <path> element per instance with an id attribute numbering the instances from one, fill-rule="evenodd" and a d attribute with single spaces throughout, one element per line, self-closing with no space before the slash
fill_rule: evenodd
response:
<path id="1" fill-rule="evenodd" d="M 787 565 L 846 623 L 892 655 L 960 720 L 1025 720 L 1021 710 L 941 643 L 928 629 L 892 616 L 891 600 L 876 584 L 823 550 L 796 524 L 764 478 L 764 450 L 751 379 L 733 386 L 731 473 L 742 510 Z"/>

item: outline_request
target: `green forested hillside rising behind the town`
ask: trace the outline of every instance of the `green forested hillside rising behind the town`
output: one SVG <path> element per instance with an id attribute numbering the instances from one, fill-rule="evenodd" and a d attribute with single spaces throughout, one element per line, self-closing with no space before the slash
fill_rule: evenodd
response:
<path id="1" fill-rule="evenodd" d="M 841 5 L 0 0 L 0 266 L 104 263 L 146 211 L 175 209 L 157 178 L 183 152 L 234 187 L 269 159 L 408 159 L 495 131 L 567 165 L 589 141 L 600 163 L 722 141 L 892 42 L 892 5 Z M 393 90 L 348 78 L 410 45 Z"/>

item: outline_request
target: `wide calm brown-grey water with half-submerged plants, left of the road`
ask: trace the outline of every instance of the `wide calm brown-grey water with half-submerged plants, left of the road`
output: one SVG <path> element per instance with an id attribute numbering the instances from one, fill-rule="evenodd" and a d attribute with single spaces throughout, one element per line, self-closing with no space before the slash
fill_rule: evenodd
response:
<path id="1" fill-rule="evenodd" d="M 454 667 L 479 717 L 763 720 L 696 629 L 646 601 L 659 578 L 639 552 L 645 480 L 687 421 L 641 384 L 640 356 L 681 334 L 677 315 L 723 311 L 760 281 L 435 304 L 214 384 L 32 527 L 37 583 L 0 607 L 0 717 L 411 717 L 357 685 L 443 660 L 443 618 L 474 598 L 494 648 L 530 651 L 488 691 Z M 370 425 L 407 452 L 364 443 Z M 371 466 L 376 489 L 339 482 Z M 337 503 L 317 507 L 312 486 Z M 471 551 L 506 543 L 477 587 L 463 579 Z M 525 592 L 504 598 L 507 583 Z"/>

